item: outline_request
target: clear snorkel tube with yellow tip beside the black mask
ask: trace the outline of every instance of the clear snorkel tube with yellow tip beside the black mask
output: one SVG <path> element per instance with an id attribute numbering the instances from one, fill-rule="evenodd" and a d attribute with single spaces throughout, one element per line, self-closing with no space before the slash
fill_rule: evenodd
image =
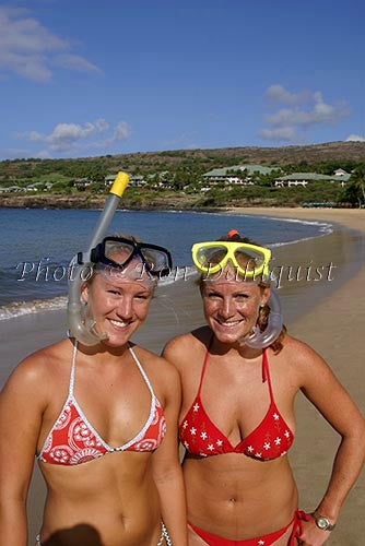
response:
<path id="1" fill-rule="evenodd" d="M 78 252 L 70 262 L 71 274 L 69 275 L 69 300 L 67 308 L 68 324 L 71 336 L 84 345 L 96 345 L 101 340 L 107 337 L 106 334 L 96 334 L 93 331 L 95 320 L 84 317 L 81 287 L 90 278 L 93 271 L 91 251 L 103 239 L 128 182 L 128 175 L 119 171 L 111 186 L 99 221 L 94 228 L 86 252 Z"/>

